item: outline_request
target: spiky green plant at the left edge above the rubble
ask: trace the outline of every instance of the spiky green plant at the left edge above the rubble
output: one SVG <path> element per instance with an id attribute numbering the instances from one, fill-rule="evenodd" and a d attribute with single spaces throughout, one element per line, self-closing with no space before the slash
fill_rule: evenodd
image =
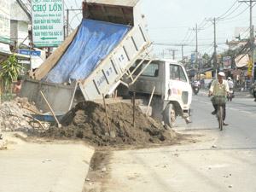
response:
<path id="1" fill-rule="evenodd" d="M 10 85 L 18 78 L 21 69 L 22 66 L 18 63 L 15 55 L 10 55 L 6 61 L 1 63 L 0 78 L 3 81 L 5 90 L 10 89 Z"/>

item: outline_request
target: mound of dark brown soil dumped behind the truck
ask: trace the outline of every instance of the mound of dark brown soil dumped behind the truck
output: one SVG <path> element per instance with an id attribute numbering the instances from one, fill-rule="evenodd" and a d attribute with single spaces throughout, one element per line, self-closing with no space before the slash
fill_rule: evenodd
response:
<path id="1" fill-rule="evenodd" d="M 61 121 L 62 127 L 50 127 L 39 133 L 41 137 L 80 138 L 97 146 L 144 145 L 147 143 L 173 143 L 177 134 L 160 122 L 143 114 L 136 107 L 135 127 L 131 104 L 108 104 L 108 129 L 105 108 L 96 102 L 80 102 Z M 115 137 L 112 137 L 113 134 Z"/>

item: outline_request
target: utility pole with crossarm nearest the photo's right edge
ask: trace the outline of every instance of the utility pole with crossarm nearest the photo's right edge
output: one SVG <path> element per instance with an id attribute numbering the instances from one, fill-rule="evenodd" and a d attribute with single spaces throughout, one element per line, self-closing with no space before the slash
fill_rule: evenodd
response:
<path id="1" fill-rule="evenodd" d="M 253 3 L 255 3 L 255 0 L 247 0 L 247 1 L 239 1 L 239 3 L 247 3 L 247 5 L 250 7 L 250 60 L 253 62 L 255 58 L 253 58 L 253 49 L 254 49 L 254 32 L 253 32 Z M 253 63 L 254 66 L 254 63 Z M 253 84 L 253 77 L 251 79 L 251 84 Z"/>

